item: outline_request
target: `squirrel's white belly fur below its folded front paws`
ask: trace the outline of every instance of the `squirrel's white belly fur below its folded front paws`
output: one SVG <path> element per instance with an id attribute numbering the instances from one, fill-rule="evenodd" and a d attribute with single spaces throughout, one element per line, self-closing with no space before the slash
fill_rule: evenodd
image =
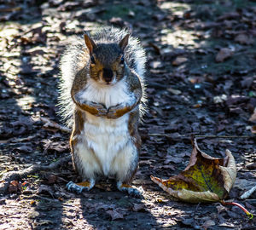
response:
<path id="1" fill-rule="evenodd" d="M 95 153 L 104 175 L 109 174 L 114 158 L 130 141 L 128 119 L 129 114 L 117 119 L 108 119 L 98 118 L 86 112 L 84 141 Z"/>

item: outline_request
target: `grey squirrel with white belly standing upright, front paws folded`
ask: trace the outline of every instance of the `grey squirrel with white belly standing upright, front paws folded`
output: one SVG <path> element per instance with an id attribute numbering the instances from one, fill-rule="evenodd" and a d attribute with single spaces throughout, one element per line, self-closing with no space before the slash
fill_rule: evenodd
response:
<path id="1" fill-rule="evenodd" d="M 113 27 L 85 32 L 62 55 L 59 104 L 73 125 L 73 168 L 82 178 L 69 181 L 67 190 L 89 191 L 103 175 L 114 178 L 119 191 L 140 193 L 130 183 L 141 149 L 145 62 L 138 39 Z"/>

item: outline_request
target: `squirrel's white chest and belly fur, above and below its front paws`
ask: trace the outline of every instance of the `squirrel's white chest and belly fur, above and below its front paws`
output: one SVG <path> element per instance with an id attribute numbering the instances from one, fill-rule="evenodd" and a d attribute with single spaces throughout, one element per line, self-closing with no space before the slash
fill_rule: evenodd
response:
<path id="1" fill-rule="evenodd" d="M 127 90 L 125 78 L 114 85 L 102 85 L 93 79 L 88 79 L 86 87 L 81 90 L 79 97 L 82 101 L 102 103 L 108 108 L 131 101 L 134 95 Z M 116 167 L 115 158 L 120 152 L 124 153 L 124 149 L 127 148 L 125 146 L 129 141 L 131 142 L 128 131 L 129 112 L 117 119 L 99 118 L 89 112 L 85 112 L 85 115 L 85 145 L 95 154 L 102 173 L 109 175 L 111 170 Z M 132 147 L 129 149 L 132 152 Z M 125 153 L 125 155 L 129 154 Z M 88 157 L 85 155 L 82 155 L 81 158 L 84 162 L 88 161 Z M 127 156 L 127 165 L 129 164 L 128 158 L 130 157 Z"/>

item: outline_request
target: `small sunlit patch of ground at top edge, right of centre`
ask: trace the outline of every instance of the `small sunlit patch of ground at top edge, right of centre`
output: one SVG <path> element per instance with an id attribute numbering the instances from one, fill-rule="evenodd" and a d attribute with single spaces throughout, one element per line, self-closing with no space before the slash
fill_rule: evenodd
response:
<path id="1" fill-rule="evenodd" d="M 189 4 L 186 3 L 172 3 L 172 2 L 163 2 L 160 4 L 160 9 L 168 10 L 172 12 L 173 15 L 182 16 L 185 11 L 190 10 Z"/>

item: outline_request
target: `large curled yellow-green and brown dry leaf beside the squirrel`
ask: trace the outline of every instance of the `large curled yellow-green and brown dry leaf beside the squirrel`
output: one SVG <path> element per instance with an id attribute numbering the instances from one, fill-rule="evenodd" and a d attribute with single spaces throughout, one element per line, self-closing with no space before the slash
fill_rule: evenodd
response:
<path id="1" fill-rule="evenodd" d="M 236 162 L 229 150 L 225 158 L 212 158 L 201 152 L 195 138 L 189 164 L 169 180 L 151 175 L 151 180 L 175 198 L 189 203 L 218 202 L 230 193 L 236 180 Z"/>

